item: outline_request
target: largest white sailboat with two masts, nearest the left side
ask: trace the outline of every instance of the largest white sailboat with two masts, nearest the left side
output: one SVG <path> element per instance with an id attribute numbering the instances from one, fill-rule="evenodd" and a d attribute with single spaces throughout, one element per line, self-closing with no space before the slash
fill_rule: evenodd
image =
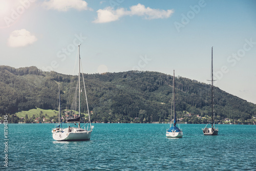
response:
<path id="1" fill-rule="evenodd" d="M 66 127 L 65 129 L 62 128 L 62 126 L 60 126 L 60 124 L 55 127 L 52 130 L 52 137 L 54 140 L 57 141 L 84 141 L 84 140 L 90 140 L 91 138 L 91 134 L 92 134 L 92 130 L 93 127 L 91 125 L 91 120 L 90 120 L 90 113 L 89 113 L 89 108 L 88 108 L 88 101 L 87 101 L 87 95 L 86 95 L 86 87 L 84 84 L 84 78 L 83 78 L 83 73 L 82 73 L 82 80 L 83 80 L 83 88 L 84 88 L 84 93 L 86 96 L 86 102 L 87 102 L 87 110 L 88 110 L 88 117 L 89 117 L 89 123 L 88 126 L 86 127 L 86 124 L 84 124 L 82 127 L 80 127 L 80 94 L 81 94 L 81 90 L 80 90 L 80 45 L 78 46 L 78 61 L 79 61 L 79 74 L 78 74 L 78 115 L 79 117 L 77 118 L 73 118 L 73 119 L 68 119 L 67 123 L 68 123 L 68 127 Z M 61 123 L 60 121 L 60 101 L 59 101 L 59 123 Z M 78 123 L 78 126 L 70 126 L 70 123 Z M 76 125 L 76 124 L 75 124 Z"/>

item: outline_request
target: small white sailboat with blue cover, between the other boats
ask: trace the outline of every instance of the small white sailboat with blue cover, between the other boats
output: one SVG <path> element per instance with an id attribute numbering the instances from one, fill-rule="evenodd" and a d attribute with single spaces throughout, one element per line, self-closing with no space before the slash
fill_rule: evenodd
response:
<path id="1" fill-rule="evenodd" d="M 175 110 L 175 73 L 173 79 L 173 108 L 174 108 L 174 123 L 170 123 L 170 128 L 166 130 L 166 137 L 167 138 L 182 138 L 183 132 L 180 129 L 180 126 L 177 127 L 177 117 L 176 117 L 176 110 Z"/>

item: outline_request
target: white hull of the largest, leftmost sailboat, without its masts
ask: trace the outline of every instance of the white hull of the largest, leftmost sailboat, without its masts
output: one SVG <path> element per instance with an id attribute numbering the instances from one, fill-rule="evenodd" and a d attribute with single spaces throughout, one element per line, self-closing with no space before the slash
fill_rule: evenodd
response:
<path id="1" fill-rule="evenodd" d="M 86 131 L 79 128 L 66 128 L 62 132 L 52 134 L 56 141 L 86 141 L 91 139 L 92 130 Z"/>

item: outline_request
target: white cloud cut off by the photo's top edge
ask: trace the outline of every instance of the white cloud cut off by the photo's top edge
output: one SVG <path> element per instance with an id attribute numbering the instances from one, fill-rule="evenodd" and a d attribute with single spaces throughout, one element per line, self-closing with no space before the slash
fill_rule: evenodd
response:
<path id="1" fill-rule="evenodd" d="M 81 10 L 92 10 L 88 8 L 88 3 L 82 0 L 50 0 L 42 3 L 47 9 L 53 9 L 57 11 L 68 11 L 74 8 L 78 11 Z"/>

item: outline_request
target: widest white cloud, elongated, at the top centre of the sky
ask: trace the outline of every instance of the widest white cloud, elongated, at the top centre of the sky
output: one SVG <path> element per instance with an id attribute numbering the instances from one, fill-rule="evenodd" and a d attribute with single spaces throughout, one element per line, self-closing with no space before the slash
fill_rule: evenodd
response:
<path id="1" fill-rule="evenodd" d="M 145 19 L 168 18 L 174 13 L 174 10 L 152 9 L 150 7 L 145 8 L 144 5 L 138 4 L 130 7 L 130 11 L 124 8 L 114 10 L 111 7 L 106 7 L 104 9 L 99 9 L 97 13 L 98 17 L 94 20 L 94 23 L 114 22 L 125 15 L 144 16 Z"/>

